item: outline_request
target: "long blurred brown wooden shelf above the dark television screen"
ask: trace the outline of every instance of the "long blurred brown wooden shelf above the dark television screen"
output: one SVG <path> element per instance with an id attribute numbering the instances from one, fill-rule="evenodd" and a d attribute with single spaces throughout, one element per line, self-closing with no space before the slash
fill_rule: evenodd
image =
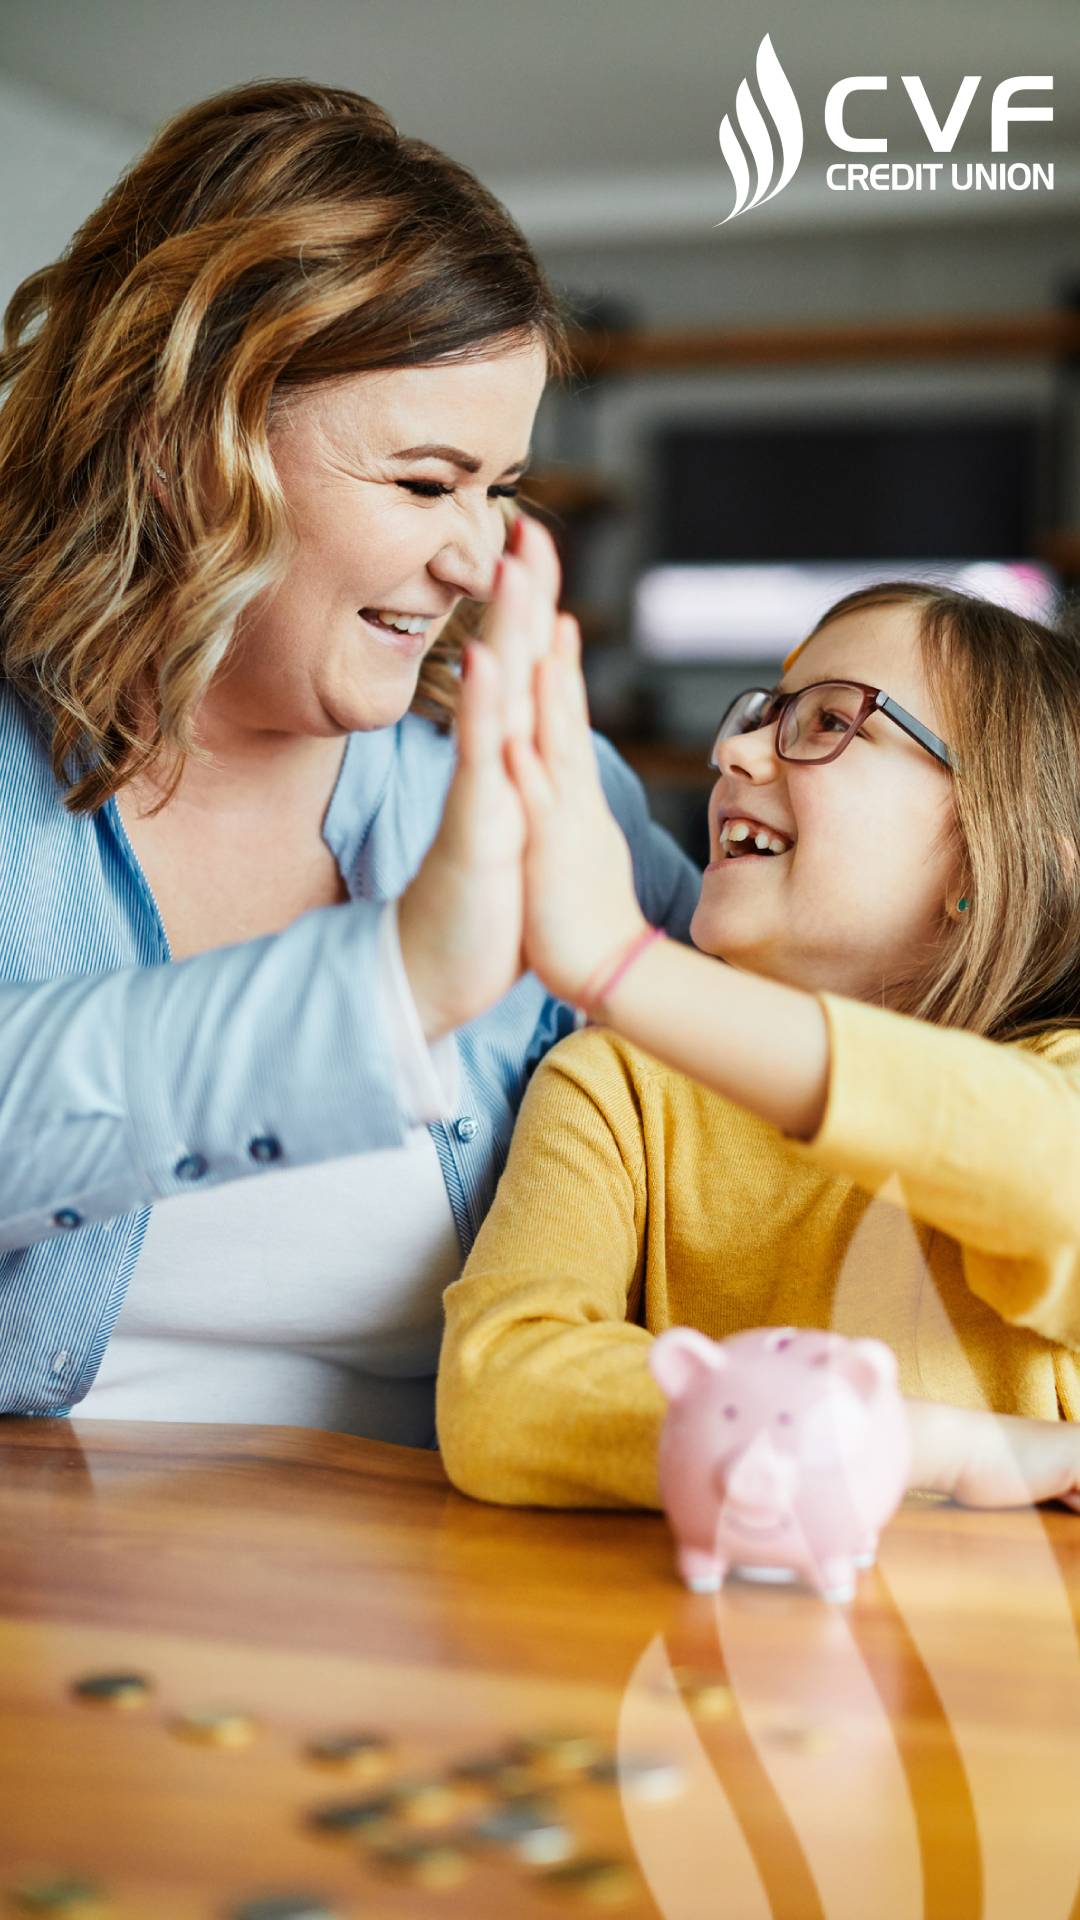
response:
<path id="1" fill-rule="evenodd" d="M 1080 355 L 1080 315 L 859 321 L 826 326 L 650 328 L 573 334 L 586 376 L 801 367 L 826 361 L 1059 359 Z"/>

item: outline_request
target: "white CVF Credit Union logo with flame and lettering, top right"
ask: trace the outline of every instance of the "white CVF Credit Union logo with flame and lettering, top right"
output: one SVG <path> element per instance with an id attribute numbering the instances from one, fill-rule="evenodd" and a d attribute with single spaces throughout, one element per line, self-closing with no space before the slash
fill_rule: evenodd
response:
<path id="1" fill-rule="evenodd" d="M 749 81 L 742 81 L 734 100 L 732 117 L 724 113 L 721 121 L 721 154 L 728 163 L 734 186 L 734 205 L 717 227 L 726 227 L 736 213 L 749 213 L 751 207 L 774 200 L 794 179 L 803 157 L 803 117 L 792 83 L 784 73 L 773 40 L 765 35 L 757 48 L 755 61 L 757 94 Z M 967 125 L 970 106 L 982 75 L 965 73 L 953 98 L 944 104 L 944 117 L 926 94 L 917 73 L 901 75 L 901 84 L 913 108 L 913 115 L 926 136 L 932 154 L 951 154 L 961 129 Z M 830 144 L 842 154 L 888 154 L 884 136 L 857 136 L 847 132 L 844 109 L 851 94 L 880 94 L 888 90 L 886 73 L 853 73 L 836 81 L 824 100 L 824 132 Z M 1015 121 L 1051 121 L 1051 106 L 1017 106 L 1015 94 L 1051 92 L 1049 73 L 1017 73 L 1001 81 L 990 100 L 990 152 L 1009 152 L 1009 129 Z M 882 192 L 934 192 L 945 179 L 957 192 L 1024 192 L 1053 188 L 1053 165 L 1028 165 L 1026 161 L 953 161 L 945 177 L 944 161 L 834 161 L 824 175 L 832 192 L 863 190 Z"/>

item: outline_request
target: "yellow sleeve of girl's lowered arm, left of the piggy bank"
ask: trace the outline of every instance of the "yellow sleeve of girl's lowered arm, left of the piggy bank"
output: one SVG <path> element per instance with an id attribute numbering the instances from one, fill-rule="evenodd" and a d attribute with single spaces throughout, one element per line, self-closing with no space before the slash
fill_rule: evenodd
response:
<path id="1" fill-rule="evenodd" d="M 646 1183 L 634 1085 L 607 1035 L 532 1077 L 492 1210 L 446 1292 L 438 1442 L 477 1500 L 659 1505 L 665 1402 L 632 1325 Z"/>

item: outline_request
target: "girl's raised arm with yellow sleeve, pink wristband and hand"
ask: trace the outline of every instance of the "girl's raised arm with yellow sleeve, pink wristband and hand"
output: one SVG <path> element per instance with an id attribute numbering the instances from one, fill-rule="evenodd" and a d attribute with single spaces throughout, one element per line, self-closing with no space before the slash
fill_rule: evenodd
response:
<path id="1" fill-rule="evenodd" d="M 642 927 L 586 753 L 575 624 L 536 674 L 532 743 L 509 749 L 528 822 L 527 956 L 580 1002 Z M 653 943 L 607 995 L 626 1039 L 803 1142 L 871 1192 L 899 1175 L 1003 1319 L 1080 1350 L 1080 1043 L 1053 1058 L 813 995 Z M 1080 1415 L 1080 1407 L 1070 1409 Z"/>

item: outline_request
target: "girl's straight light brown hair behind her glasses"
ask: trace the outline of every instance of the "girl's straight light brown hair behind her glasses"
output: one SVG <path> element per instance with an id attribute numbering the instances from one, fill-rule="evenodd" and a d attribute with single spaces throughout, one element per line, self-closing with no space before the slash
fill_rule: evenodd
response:
<path id="1" fill-rule="evenodd" d="M 901 603 L 917 614 L 957 758 L 945 833 L 970 904 L 919 973 L 890 983 L 888 1004 L 997 1041 L 1080 1025 L 1076 611 L 1049 626 L 976 595 L 884 580 L 836 601 L 809 637 L 842 614 Z"/>

